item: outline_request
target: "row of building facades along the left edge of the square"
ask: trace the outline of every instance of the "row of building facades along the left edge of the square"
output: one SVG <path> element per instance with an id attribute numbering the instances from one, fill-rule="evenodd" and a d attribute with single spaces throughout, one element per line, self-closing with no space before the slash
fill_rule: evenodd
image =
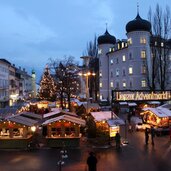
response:
<path id="1" fill-rule="evenodd" d="M 33 78 L 34 77 L 34 78 Z M 12 106 L 18 100 L 36 97 L 36 75 L 0 59 L 0 108 Z"/>

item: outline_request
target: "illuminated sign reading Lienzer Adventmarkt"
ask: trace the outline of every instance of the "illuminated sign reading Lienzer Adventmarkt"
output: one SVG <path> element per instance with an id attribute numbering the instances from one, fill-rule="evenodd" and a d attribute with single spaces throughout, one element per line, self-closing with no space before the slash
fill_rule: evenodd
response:
<path id="1" fill-rule="evenodd" d="M 171 92 L 115 92 L 114 100 L 169 100 L 171 99 Z"/>

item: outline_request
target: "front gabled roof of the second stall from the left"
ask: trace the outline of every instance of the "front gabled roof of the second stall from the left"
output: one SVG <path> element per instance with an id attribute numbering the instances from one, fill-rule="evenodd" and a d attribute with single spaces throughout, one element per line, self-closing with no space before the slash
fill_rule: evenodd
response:
<path id="1" fill-rule="evenodd" d="M 52 122 L 56 122 L 56 121 L 59 121 L 59 120 L 66 120 L 66 121 L 69 121 L 69 122 L 73 122 L 73 123 L 85 126 L 85 120 L 74 117 L 74 116 L 69 116 L 69 115 L 61 115 L 61 116 L 57 116 L 57 117 L 48 119 L 45 122 L 43 122 L 42 125 L 47 125 L 47 124 L 50 124 Z"/>

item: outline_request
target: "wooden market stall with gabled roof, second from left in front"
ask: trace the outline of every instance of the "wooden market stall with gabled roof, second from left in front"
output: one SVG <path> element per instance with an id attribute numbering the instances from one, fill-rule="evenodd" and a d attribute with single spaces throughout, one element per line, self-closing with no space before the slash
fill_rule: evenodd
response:
<path id="1" fill-rule="evenodd" d="M 52 109 L 44 115 L 44 120 L 43 134 L 48 147 L 79 146 L 80 127 L 85 126 L 85 120 L 60 109 Z"/>

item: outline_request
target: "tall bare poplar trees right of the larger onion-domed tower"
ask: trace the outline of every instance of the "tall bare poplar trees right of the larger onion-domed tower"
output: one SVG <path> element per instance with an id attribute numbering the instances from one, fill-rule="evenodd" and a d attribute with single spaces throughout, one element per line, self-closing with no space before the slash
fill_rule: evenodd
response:
<path id="1" fill-rule="evenodd" d="M 169 53 L 171 47 L 168 40 L 171 35 L 171 16 L 170 9 L 166 6 L 165 10 L 157 4 L 155 12 L 151 8 L 148 13 L 149 21 L 152 23 L 151 35 L 151 63 L 152 72 L 148 77 L 148 83 L 151 90 L 165 90 L 168 86 L 168 70 L 170 65 Z M 147 68 L 147 71 L 150 69 Z M 151 78 L 151 81 L 150 81 Z"/>

